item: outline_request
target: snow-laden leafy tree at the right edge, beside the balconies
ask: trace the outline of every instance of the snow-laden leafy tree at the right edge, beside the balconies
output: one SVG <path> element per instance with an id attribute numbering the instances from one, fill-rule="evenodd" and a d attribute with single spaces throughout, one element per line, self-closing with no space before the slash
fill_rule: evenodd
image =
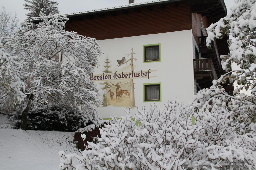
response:
<path id="1" fill-rule="evenodd" d="M 210 47 L 211 41 L 222 38 L 225 35 L 235 37 L 234 41 L 228 40 L 230 53 L 222 55 L 222 68 L 227 71 L 220 79 L 213 81 L 210 89 L 199 91 L 194 100 L 194 105 L 200 111 L 212 108 L 221 109 L 227 107 L 233 111 L 236 121 L 244 122 L 248 128 L 251 122 L 255 122 L 256 111 L 256 4 L 255 0 L 237 0 L 230 8 L 231 12 L 220 21 L 211 24 L 207 29 L 207 45 Z M 231 69 L 231 64 L 235 63 L 240 68 Z M 237 82 L 238 88 L 233 95 L 229 95 L 222 88 L 229 80 L 231 83 Z M 250 95 L 240 93 L 240 90 L 251 90 Z"/>

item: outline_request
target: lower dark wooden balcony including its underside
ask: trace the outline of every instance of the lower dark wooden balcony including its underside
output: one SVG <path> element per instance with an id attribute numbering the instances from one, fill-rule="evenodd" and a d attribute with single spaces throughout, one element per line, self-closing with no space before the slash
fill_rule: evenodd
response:
<path id="1" fill-rule="evenodd" d="M 194 59 L 194 79 L 202 88 L 209 88 L 218 79 L 211 58 Z"/>

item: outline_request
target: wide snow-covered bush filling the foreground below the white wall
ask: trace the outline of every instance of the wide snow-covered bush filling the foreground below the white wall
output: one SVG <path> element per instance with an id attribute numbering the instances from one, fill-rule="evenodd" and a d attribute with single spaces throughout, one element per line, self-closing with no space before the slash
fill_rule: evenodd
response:
<path id="1" fill-rule="evenodd" d="M 135 116 L 112 117 L 97 143 L 88 142 L 80 154 L 60 151 L 60 169 L 256 168 L 255 131 L 233 122 L 228 110 L 200 115 L 191 110 L 168 102 L 163 111 L 152 105 Z"/>

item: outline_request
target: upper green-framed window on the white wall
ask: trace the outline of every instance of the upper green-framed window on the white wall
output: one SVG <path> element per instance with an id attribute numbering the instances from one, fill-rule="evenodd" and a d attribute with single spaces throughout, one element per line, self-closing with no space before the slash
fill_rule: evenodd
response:
<path id="1" fill-rule="evenodd" d="M 143 62 L 160 61 L 161 57 L 160 44 L 143 45 Z"/>

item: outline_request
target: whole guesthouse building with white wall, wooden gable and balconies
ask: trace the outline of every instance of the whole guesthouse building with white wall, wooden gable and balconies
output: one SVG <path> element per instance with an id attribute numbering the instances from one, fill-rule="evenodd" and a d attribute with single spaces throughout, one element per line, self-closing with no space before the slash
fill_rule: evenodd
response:
<path id="1" fill-rule="evenodd" d="M 219 56 L 229 52 L 228 37 L 206 47 L 206 28 L 226 16 L 223 0 L 155 0 L 65 15 L 65 30 L 100 44 L 91 81 L 101 94 L 102 118 L 154 103 L 165 108 L 168 100 L 187 104 L 225 73 Z"/>

